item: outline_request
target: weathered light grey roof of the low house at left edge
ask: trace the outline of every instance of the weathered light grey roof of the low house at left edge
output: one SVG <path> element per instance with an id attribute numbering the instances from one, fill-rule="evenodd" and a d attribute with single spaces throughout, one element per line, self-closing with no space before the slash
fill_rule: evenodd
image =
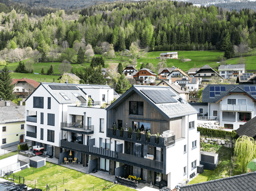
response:
<path id="1" fill-rule="evenodd" d="M 25 121 L 25 106 L 0 107 L 0 123 Z"/>

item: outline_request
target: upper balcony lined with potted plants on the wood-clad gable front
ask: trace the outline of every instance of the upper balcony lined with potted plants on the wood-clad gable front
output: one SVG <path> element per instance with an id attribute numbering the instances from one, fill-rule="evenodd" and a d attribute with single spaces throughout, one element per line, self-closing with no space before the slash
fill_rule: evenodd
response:
<path id="1" fill-rule="evenodd" d="M 160 148 L 169 148 L 175 144 L 175 135 L 171 137 L 156 137 L 141 133 L 128 132 L 125 130 L 107 129 L 107 137 L 121 139 L 143 145 L 156 146 Z"/>

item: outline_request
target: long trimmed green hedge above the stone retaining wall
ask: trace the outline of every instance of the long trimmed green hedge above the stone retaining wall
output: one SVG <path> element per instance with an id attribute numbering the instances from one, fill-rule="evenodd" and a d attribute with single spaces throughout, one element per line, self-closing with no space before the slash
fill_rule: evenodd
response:
<path id="1" fill-rule="evenodd" d="M 203 127 L 198 127 L 198 131 L 200 131 L 200 135 L 203 135 L 203 136 L 214 137 L 214 138 L 237 139 L 237 133 L 234 130 L 230 132 L 225 130 L 213 130 L 213 129 L 207 129 Z"/>

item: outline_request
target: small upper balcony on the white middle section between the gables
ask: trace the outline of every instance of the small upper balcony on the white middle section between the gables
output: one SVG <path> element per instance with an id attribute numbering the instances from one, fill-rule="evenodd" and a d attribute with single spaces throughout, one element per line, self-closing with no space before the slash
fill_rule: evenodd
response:
<path id="1" fill-rule="evenodd" d="M 80 123 L 67 123 L 67 122 L 61 122 L 60 123 L 61 130 L 66 130 L 69 132 L 76 132 L 76 133 L 82 133 L 84 135 L 91 135 L 93 134 L 94 126 L 85 126 L 80 125 Z"/>

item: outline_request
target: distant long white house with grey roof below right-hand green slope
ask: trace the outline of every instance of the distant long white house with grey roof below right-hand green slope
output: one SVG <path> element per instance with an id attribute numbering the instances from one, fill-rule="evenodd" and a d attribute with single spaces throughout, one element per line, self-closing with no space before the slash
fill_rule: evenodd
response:
<path id="1" fill-rule="evenodd" d="M 230 77 L 237 77 L 245 73 L 245 64 L 220 65 L 218 70 L 223 78 L 229 79 Z"/>

